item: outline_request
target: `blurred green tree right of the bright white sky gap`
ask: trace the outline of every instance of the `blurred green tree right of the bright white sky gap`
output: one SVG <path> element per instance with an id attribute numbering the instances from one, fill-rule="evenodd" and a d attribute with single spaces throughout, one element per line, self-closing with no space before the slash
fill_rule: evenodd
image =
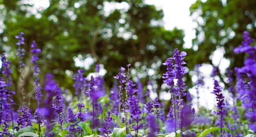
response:
<path id="1" fill-rule="evenodd" d="M 245 30 L 256 36 L 255 0 L 197 0 L 190 7 L 191 16 L 197 22 L 193 48 L 200 53 L 194 60 L 209 62 L 209 56 L 217 47 L 224 47 L 224 57 L 231 65 L 241 67 L 244 54 L 234 54 L 233 49 L 240 45 Z"/>

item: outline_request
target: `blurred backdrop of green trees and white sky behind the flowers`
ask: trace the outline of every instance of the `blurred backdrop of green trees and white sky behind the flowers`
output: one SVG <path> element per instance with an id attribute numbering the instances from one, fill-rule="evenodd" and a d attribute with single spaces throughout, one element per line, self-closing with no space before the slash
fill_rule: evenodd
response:
<path id="1" fill-rule="evenodd" d="M 15 36 L 20 31 L 25 33 L 28 101 L 33 101 L 35 93 L 30 63 L 30 45 L 35 40 L 42 49 L 42 87 L 45 75 L 52 73 L 72 95 L 73 74 L 78 69 L 90 76 L 100 64 L 100 75 L 111 88 L 119 68 L 130 63 L 134 81 L 139 78 L 144 90 L 152 89 L 147 86 L 152 81 L 157 94 L 151 92 L 150 96 L 169 100 L 161 78 L 166 67 L 161 64 L 174 48 L 186 51 L 189 92 L 195 93 L 194 66 L 202 64 L 206 84 L 200 89 L 200 104 L 212 108 L 211 70 L 218 68 L 217 79 L 225 87 L 227 68 L 243 65 L 245 55 L 234 54 L 233 49 L 245 30 L 256 37 L 256 0 L 0 0 L 0 53 L 5 52 L 11 61 L 17 106 L 22 104 L 15 55 Z"/>

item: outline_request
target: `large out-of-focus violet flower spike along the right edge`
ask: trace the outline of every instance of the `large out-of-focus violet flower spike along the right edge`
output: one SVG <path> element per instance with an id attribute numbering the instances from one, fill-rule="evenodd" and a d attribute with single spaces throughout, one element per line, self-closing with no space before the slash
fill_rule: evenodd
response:
<path id="1" fill-rule="evenodd" d="M 250 38 L 248 31 L 243 33 L 244 40 L 239 47 L 234 49 L 235 53 L 247 53 L 244 66 L 235 68 L 237 75 L 237 89 L 243 106 L 247 108 L 246 117 L 249 119 L 249 127 L 256 132 L 256 45 L 251 46 L 254 39 Z M 247 83 L 248 82 L 248 83 Z"/>

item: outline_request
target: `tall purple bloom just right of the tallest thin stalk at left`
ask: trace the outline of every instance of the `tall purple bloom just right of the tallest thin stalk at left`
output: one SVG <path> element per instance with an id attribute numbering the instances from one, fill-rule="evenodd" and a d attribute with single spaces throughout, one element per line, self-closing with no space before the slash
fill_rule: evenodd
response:
<path id="1" fill-rule="evenodd" d="M 33 54 L 32 58 L 31 58 L 31 62 L 33 63 L 33 76 L 35 78 L 35 85 L 39 85 L 39 73 L 40 68 L 38 67 L 37 61 L 39 59 L 38 54 L 41 53 L 41 49 L 37 48 L 37 44 L 35 43 L 35 41 L 32 42 L 32 50 L 30 50 L 30 52 Z"/>

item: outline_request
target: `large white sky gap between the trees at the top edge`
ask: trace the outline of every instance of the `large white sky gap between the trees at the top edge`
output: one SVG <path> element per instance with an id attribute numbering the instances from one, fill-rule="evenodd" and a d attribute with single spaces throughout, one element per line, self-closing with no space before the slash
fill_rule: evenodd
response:
<path id="1" fill-rule="evenodd" d="M 185 33 L 184 47 L 192 47 L 192 39 L 195 38 L 195 30 L 197 24 L 192 21 L 189 16 L 189 7 L 196 0 L 145 0 L 147 4 L 154 4 L 156 7 L 163 9 L 164 27 L 172 30 L 174 27 L 183 29 Z"/>

